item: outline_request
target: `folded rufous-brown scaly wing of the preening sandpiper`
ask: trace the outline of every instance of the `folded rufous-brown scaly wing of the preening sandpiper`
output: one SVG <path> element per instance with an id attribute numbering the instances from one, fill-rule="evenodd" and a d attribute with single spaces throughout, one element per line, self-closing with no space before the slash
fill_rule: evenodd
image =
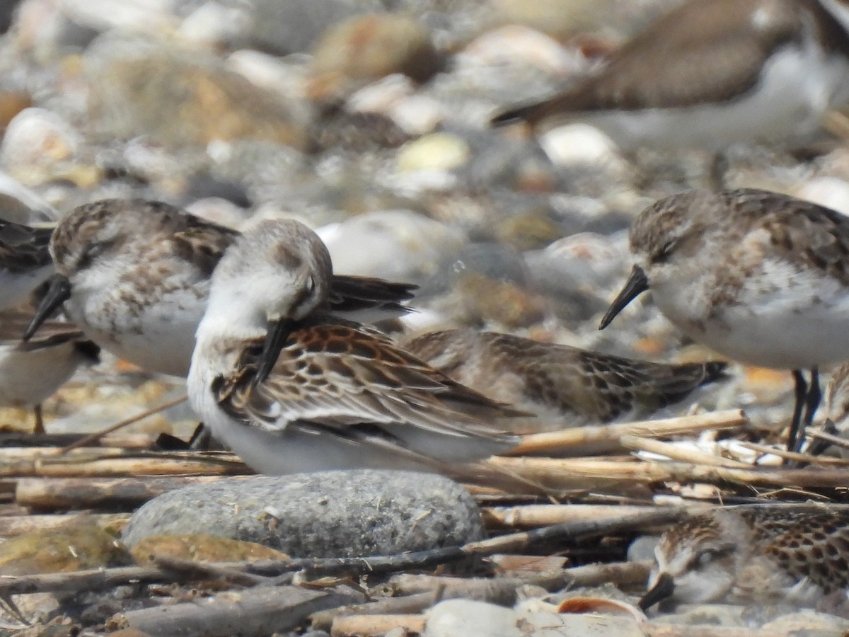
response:
<path id="1" fill-rule="evenodd" d="M 292 331 L 267 381 L 256 384 L 262 339 L 216 381 L 233 418 L 283 428 L 305 421 L 344 430 L 362 423 L 498 436 L 492 420 L 526 415 L 459 385 L 377 332 L 316 317 Z M 285 397 L 285 403 L 280 402 Z"/>

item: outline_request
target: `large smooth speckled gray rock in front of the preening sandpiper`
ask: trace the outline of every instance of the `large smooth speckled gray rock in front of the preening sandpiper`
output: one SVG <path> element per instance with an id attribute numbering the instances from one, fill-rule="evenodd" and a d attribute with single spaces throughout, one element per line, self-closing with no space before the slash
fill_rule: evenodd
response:
<path id="1" fill-rule="evenodd" d="M 163 493 L 132 516 L 123 541 L 210 533 L 296 557 L 391 555 L 483 537 L 456 482 L 412 471 L 323 471 L 228 479 Z"/>

